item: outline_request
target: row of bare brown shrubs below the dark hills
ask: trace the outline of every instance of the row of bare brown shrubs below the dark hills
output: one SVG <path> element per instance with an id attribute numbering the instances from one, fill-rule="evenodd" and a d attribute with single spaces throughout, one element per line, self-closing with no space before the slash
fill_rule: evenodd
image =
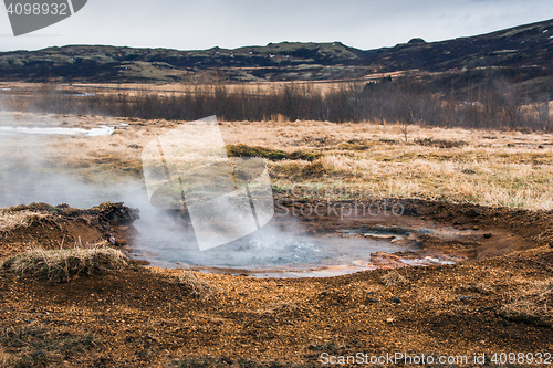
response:
<path id="1" fill-rule="evenodd" d="M 8 96 L 3 109 L 54 114 L 94 114 L 142 119 L 325 120 L 463 128 L 553 130 L 549 92 L 524 93 L 518 84 L 490 80 L 459 94 L 428 84 L 382 78 L 332 87 L 286 83 L 268 90 L 197 85 L 160 94 L 142 90 L 74 94 L 44 85 L 32 96 Z"/>

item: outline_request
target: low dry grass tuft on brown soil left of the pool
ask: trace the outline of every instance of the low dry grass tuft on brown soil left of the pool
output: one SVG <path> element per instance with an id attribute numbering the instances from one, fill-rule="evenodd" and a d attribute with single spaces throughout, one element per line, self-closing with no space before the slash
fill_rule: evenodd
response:
<path id="1" fill-rule="evenodd" d="M 98 271 L 118 271 L 128 265 L 127 261 L 123 252 L 104 244 L 59 250 L 35 248 L 0 263 L 0 273 L 56 283 Z"/>

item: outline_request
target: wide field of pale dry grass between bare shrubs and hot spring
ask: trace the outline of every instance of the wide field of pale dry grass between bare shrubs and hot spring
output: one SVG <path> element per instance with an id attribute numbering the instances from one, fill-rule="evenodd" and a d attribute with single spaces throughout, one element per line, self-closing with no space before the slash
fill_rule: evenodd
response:
<path id="1" fill-rule="evenodd" d="M 30 118 L 27 114 L 24 119 Z M 142 180 L 140 148 L 177 124 L 98 116 L 59 119 L 80 119 L 82 126 L 88 127 L 129 124 L 113 136 L 56 137 L 45 147 L 52 153 L 49 164 L 67 165 L 75 175 L 103 183 L 129 177 Z M 376 198 L 553 209 L 551 134 L 413 126 L 409 141 L 405 143 L 396 125 L 289 123 L 275 116 L 271 122 L 223 122 L 220 126 L 228 145 L 265 147 L 286 155 L 296 151 L 323 155 L 312 161 L 265 159 L 278 190 L 293 186 L 341 187 Z M 15 151 L 23 147 L 12 148 Z"/>

